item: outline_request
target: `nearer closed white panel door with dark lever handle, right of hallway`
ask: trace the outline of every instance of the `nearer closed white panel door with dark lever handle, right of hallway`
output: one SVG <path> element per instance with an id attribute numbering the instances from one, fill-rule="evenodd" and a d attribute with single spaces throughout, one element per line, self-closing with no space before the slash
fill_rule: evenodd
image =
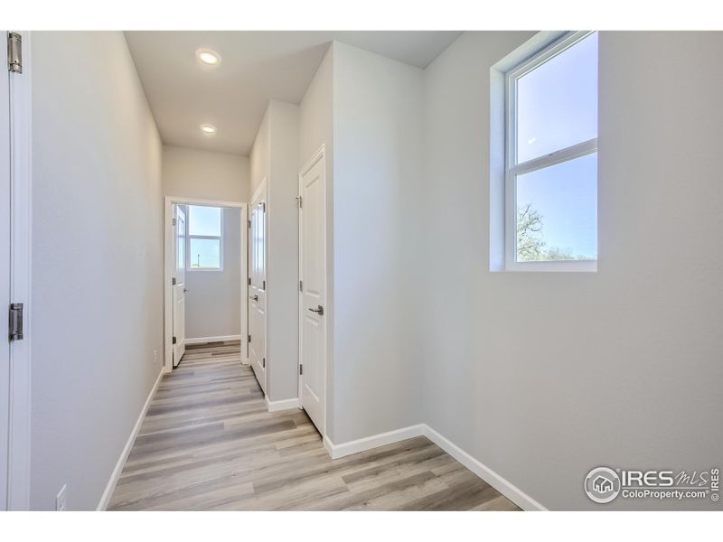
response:
<path id="1" fill-rule="evenodd" d="M 301 406 L 324 435 L 326 404 L 326 164 L 315 156 L 299 177 L 299 386 Z"/>

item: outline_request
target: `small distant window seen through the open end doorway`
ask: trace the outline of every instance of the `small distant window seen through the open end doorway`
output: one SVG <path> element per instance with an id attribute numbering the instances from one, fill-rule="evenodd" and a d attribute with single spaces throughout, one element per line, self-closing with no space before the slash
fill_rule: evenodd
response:
<path id="1" fill-rule="evenodd" d="M 223 244 L 221 242 L 221 207 L 188 206 L 188 262 L 189 270 L 221 270 Z"/>

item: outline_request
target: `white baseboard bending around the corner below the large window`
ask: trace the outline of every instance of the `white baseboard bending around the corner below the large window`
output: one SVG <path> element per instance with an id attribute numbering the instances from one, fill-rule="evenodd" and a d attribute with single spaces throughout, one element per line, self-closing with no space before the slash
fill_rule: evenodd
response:
<path id="1" fill-rule="evenodd" d="M 427 424 L 409 425 L 403 429 L 380 433 L 379 435 L 371 435 L 348 443 L 333 444 L 328 436 L 324 436 L 324 448 L 326 448 L 332 459 L 338 459 L 352 453 L 365 452 L 373 448 L 385 446 L 387 444 L 398 443 L 399 441 L 414 438 L 415 436 L 426 436 L 434 444 L 437 444 L 446 453 L 449 453 L 459 463 L 465 465 L 467 469 L 474 472 L 482 480 L 489 483 L 495 490 L 500 491 L 502 495 L 512 500 L 517 506 L 523 510 L 547 510 L 537 500 L 531 498 L 530 495 L 521 491 L 511 481 L 494 472 L 484 463 L 474 459 L 472 455 L 466 453 L 462 448 L 454 444 L 445 436 L 440 435 Z"/>

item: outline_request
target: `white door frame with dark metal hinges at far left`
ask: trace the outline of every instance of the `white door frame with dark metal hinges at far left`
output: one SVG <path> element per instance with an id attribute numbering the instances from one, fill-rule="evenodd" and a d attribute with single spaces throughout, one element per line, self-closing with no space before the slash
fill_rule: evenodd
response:
<path id="1" fill-rule="evenodd" d="M 31 362 L 33 304 L 31 295 L 33 231 L 32 59 L 29 31 L 23 39 L 23 72 L 10 73 L 10 298 L 23 303 L 23 340 L 10 342 L 10 397 L 7 509 L 30 509 Z"/>

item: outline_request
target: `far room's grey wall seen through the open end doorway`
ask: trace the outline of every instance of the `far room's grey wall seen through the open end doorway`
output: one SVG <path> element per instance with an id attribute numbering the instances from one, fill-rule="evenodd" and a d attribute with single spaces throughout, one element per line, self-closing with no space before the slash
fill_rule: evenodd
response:
<path id="1" fill-rule="evenodd" d="M 223 209 L 223 268 L 186 270 L 186 339 L 241 332 L 241 210 Z"/>

